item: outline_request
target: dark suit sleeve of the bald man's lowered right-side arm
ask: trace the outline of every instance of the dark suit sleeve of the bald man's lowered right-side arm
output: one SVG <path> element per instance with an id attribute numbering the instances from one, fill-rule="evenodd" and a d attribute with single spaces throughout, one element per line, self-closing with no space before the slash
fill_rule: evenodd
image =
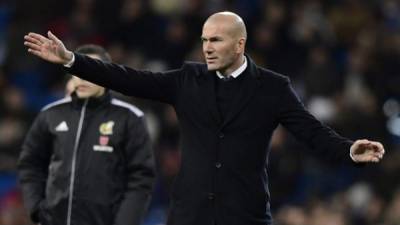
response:
<path id="1" fill-rule="evenodd" d="M 287 78 L 279 99 L 281 99 L 278 107 L 279 122 L 298 140 L 335 162 L 355 164 L 349 155 L 353 142 L 341 137 L 311 115 Z"/>

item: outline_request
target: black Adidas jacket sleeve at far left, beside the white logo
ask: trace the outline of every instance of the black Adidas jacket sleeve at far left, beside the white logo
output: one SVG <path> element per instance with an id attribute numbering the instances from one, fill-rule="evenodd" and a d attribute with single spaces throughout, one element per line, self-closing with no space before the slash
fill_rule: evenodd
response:
<path id="1" fill-rule="evenodd" d="M 34 223 L 39 221 L 40 204 L 45 198 L 51 135 L 44 113 L 40 113 L 27 133 L 18 159 L 18 176 L 24 203 Z"/>

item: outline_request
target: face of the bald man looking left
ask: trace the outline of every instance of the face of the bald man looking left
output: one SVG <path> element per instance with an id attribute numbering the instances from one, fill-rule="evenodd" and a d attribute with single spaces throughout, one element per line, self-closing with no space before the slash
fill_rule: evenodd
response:
<path id="1" fill-rule="evenodd" d="M 238 60 L 238 43 L 226 23 L 206 22 L 201 36 L 208 70 L 232 72 Z"/>

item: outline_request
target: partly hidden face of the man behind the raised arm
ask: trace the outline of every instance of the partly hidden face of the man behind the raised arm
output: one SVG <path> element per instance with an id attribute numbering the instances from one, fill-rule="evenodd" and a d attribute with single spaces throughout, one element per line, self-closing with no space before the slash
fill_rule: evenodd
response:
<path id="1" fill-rule="evenodd" d="M 89 54 L 87 56 L 94 59 L 100 59 L 100 57 L 97 55 Z M 100 97 L 104 94 L 104 87 L 101 87 L 86 80 L 82 80 L 79 77 L 72 76 L 70 82 L 71 85 L 75 88 L 75 92 L 78 98 Z"/>

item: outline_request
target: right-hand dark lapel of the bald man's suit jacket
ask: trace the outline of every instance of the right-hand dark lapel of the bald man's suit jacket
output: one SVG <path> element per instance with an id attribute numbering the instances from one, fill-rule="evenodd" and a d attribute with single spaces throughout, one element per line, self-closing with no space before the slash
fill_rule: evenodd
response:
<path id="1" fill-rule="evenodd" d="M 229 107 L 230 110 L 224 118 L 222 127 L 225 127 L 245 108 L 247 103 L 252 99 L 254 93 L 256 93 L 258 88 L 261 86 L 261 83 L 258 80 L 258 71 L 255 64 L 252 62 L 250 57 L 247 57 L 247 60 L 247 69 L 243 74 L 241 74 L 241 76 L 246 77 L 243 77 L 238 93 L 233 96 L 235 99 Z"/>

